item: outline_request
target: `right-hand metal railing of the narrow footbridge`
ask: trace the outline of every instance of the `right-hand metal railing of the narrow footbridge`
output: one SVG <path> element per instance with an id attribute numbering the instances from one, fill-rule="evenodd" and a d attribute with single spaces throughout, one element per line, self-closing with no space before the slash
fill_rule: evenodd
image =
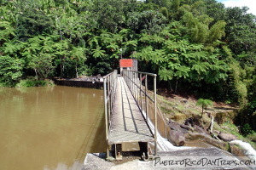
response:
<path id="1" fill-rule="evenodd" d="M 127 86 L 131 90 L 131 94 L 137 102 L 140 110 L 146 113 L 146 121 L 149 119 L 154 122 L 154 150 L 156 155 L 157 148 L 157 105 L 156 105 L 156 74 L 140 72 L 140 71 L 123 71 L 123 77 Z M 148 91 L 148 79 L 152 82 L 154 81 L 154 94 Z M 150 83 L 152 84 L 152 83 Z M 153 106 L 153 107 L 152 107 Z M 152 108 L 153 111 L 152 111 Z M 152 114 L 148 114 L 152 113 Z"/>

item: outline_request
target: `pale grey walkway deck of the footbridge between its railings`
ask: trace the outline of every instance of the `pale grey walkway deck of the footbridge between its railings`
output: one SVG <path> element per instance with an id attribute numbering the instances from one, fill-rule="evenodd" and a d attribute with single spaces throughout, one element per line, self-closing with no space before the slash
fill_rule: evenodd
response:
<path id="1" fill-rule="evenodd" d="M 108 144 L 154 141 L 123 77 L 118 77 Z"/>

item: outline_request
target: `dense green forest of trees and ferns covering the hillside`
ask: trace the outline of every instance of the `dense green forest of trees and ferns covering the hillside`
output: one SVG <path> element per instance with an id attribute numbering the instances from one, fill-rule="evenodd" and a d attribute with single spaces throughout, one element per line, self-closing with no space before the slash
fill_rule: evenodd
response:
<path id="1" fill-rule="evenodd" d="M 161 88 L 238 102 L 254 129 L 256 24 L 215 0 L 0 0 L 0 86 L 106 74 L 119 59 Z M 120 50 L 121 49 L 121 50 Z"/>

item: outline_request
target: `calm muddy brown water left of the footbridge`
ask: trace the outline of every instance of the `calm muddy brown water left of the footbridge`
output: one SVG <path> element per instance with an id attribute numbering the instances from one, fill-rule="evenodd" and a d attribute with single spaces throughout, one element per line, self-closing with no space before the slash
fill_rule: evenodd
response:
<path id="1" fill-rule="evenodd" d="M 69 169 L 105 150 L 101 90 L 0 88 L 0 169 Z"/>

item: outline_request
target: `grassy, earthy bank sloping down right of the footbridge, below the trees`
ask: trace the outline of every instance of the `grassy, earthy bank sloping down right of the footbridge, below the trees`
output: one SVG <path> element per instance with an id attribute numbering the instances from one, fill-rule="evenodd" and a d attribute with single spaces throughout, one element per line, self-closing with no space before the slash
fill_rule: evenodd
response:
<path id="1" fill-rule="evenodd" d="M 215 136 L 219 136 L 221 133 L 229 134 L 235 137 L 234 139 L 247 142 L 253 146 L 254 150 L 256 149 L 253 134 L 243 136 L 241 134 L 241 127 L 236 127 L 234 123 L 239 109 L 236 105 L 213 102 L 213 105 L 208 107 L 207 111 L 204 112 L 203 122 L 201 123 L 201 107 L 196 105 L 196 101 L 193 96 L 182 97 L 175 94 L 169 96 L 158 95 L 158 107 L 160 107 L 160 111 L 166 120 L 181 126 L 188 125 L 188 129 L 192 132 L 195 131 L 197 133 L 206 133 Z M 210 133 L 212 118 L 212 133 Z M 212 138 L 210 135 L 209 137 Z"/>

